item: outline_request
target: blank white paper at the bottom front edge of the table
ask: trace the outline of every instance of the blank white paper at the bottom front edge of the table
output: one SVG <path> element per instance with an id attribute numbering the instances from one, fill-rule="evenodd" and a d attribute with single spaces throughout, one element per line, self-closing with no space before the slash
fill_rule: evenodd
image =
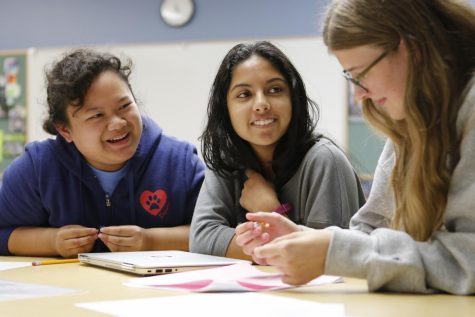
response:
<path id="1" fill-rule="evenodd" d="M 345 316 L 343 304 L 323 304 L 262 293 L 187 294 L 156 298 L 79 303 L 114 316 Z"/>

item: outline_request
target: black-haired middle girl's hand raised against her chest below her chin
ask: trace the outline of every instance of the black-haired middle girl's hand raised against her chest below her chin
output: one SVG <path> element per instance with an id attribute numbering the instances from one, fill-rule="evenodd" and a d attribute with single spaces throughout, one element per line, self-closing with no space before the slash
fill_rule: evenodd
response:
<path id="1" fill-rule="evenodd" d="M 280 206 L 272 183 L 253 170 L 246 170 L 246 176 L 239 199 L 244 209 L 250 212 L 271 211 Z"/>

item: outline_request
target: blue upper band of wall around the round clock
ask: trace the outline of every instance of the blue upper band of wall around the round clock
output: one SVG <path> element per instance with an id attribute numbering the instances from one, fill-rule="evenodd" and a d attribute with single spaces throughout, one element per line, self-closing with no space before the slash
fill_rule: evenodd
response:
<path id="1" fill-rule="evenodd" d="M 161 0 L 1 0 L 0 50 L 77 45 L 301 37 L 320 34 L 328 0 L 195 0 L 181 28 L 159 16 Z"/>

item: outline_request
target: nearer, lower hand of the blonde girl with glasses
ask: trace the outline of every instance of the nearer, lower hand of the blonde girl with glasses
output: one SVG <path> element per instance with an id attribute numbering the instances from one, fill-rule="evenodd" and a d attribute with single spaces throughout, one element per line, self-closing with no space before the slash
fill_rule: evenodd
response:
<path id="1" fill-rule="evenodd" d="M 275 266 L 284 283 L 302 285 L 324 273 L 332 235 L 330 230 L 294 232 L 255 248 L 253 259 Z"/>

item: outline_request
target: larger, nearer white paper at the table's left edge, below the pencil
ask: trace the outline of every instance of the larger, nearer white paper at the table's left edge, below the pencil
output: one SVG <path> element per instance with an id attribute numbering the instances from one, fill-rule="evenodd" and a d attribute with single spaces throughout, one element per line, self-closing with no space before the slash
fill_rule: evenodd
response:
<path id="1" fill-rule="evenodd" d="M 41 284 L 17 283 L 0 280 L 0 301 L 39 296 L 63 295 L 73 292 L 76 292 L 76 290 Z"/>

